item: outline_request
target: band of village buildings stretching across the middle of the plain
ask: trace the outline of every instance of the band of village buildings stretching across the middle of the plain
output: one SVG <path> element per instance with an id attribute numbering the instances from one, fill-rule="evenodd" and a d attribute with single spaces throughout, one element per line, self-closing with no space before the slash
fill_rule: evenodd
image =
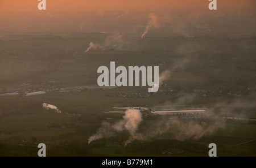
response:
<path id="1" fill-rule="evenodd" d="M 57 81 L 45 81 L 43 85 L 40 84 L 30 84 L 23 83 L 19 85 L 18 88 L 8 88 L 0 89 L 0 96 L 35 96 L 39 94 L 46 94 L 50 92 L 81 92 L 84 90 L 101 90 L 101 89 L 111 89 L 113 92 L 109 95 L 110 97 L 130 97 L 130 98 L 143 98 L 149 97 L 150 95 L 160 94 L 172 94 L 172 93 L 196 93 L 202 94 L 203 96 L 213 96 L 213 95 L 230 95 L 241 97 L 243 94 L 253 93 L 256 91 L 256 88 L 250 87 L 249 85 L 243 89 L 230 88 L 227 86 L 205 86 L 205 87 L 194 87 L 189 85 L 167 85 L 164 84 L 159 87 L 159 91 L 155 93 L 148 93 L 146 87 L 137 87 L 139 92 L 118 92 L 121 90 L 119 87 L 98 87 L 97 85 L 91 86 L 76 86 L 76 87 L 58 87 Z M 121 87 L 122 88 L 122 87 Z M 136 87 L 134 87 L 136 88 Z"/>

